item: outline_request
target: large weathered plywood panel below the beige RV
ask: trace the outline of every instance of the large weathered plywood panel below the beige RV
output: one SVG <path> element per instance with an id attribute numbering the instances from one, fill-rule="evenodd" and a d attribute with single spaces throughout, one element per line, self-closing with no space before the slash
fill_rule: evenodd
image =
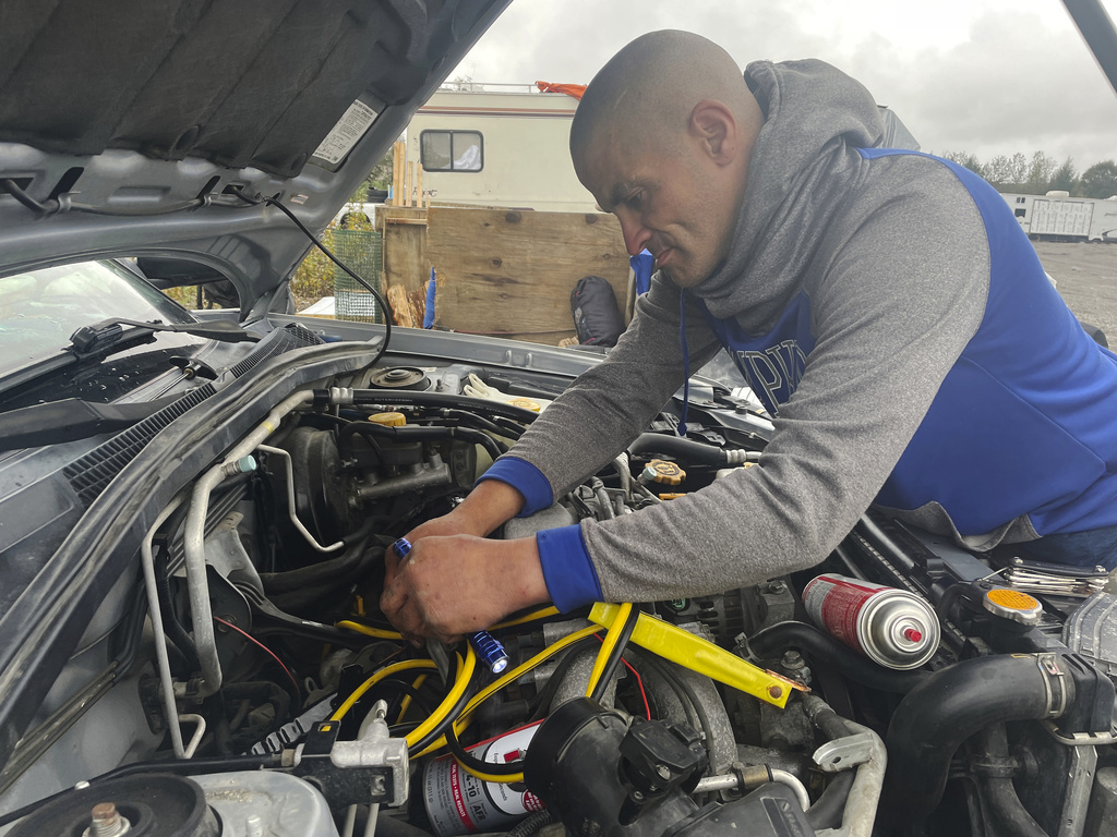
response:
<path id="1" fill-rule="evenodd" d="M 612 215 L 431 206 L 427 229 L 440 326 L 557 344 L 574 334 L 570 292 L 591 273 L 623 305 L 628 253 Z"/>

